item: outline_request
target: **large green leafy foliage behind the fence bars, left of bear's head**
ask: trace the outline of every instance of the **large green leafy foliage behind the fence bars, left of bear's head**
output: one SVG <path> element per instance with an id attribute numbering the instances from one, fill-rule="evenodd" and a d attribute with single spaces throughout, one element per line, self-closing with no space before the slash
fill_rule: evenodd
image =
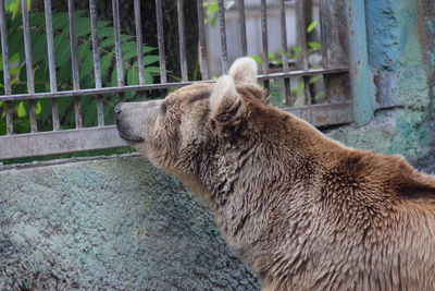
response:
<path id="1" fill-rule="evenodd" d="M 12 94 L 27 93 L 27 76 L 25 69 L 25 51 L 24 38 L 22 29 L 22 17 L 20 14 L 20 0 L 7 0 L 7 26 L 9 59 Z M 91 41 L 90 19 L 85 11 L 75 12 L 76 35 L 77 35 L 77 61 L 79 70 L 80 88 L 94 88 L 94 56 Z M 50 78 L 47 53 L 47 33 L 45 14 L 39 12 L 29 12 L 30 24 L 30 41 L 32 41 L 32 58 L 35 78 L 35 90 L 50 92 Z M 72 64 L 71 64 L 71 47 L 70 47 L 70 28 L 67 13 L 52 14 L 53 25 L 53 43 L 54 43 L 54 59 L 57 70 L 58 90 L 73 89 L 72 81 Z M 100 52 L 101 52 L 101 81 L 103 87 L 117 86 L 117 75 L 115 66 L 115 41 L 114 29 L 110 22 L 98 21 Z M 138 85 L 138 62 L 137 48 L 135 37 L 122 34 L 122 52 L 124 66 L 124 82 L 126 85 Z M 159 57 L 152 54 L 156 50 L 153 47 L 144 46 L 144 63 L 145 78 L 148 84 L 153 83 L 153 78 L 160 73 L 157 66 Z M 2 57 L 2 56 L 0 56 Z M 0 78 L 3 80 L 3 68 L 0 62 Z M 0 94 L 4 94 L 4 88 L 0 85 Z M 135 92 L 125 93 L 124 99 L 135 97 Z M 120 100 L 119 95 L 104 95 L 103 101 L 105 106 L 107 120 L 110 122 L 113 119 L 112 106 Z M 73 98 L 60 98 L 59 113 L 63 129 L 74 128 L 74 101 Z M 2 104 L 0 104 L 2 106 Z M 13 102 L 14 108 L 14 128 L 16 133 L 28 132 L 29 121 L 29 102 L 18 101 Z M 95 98 L 92 96 L 82 97 L 82 110 L 84 116 L 84 125 L 91 126 L 97 124 L 97 112 Z M 40 131 L 51 130 L 51 100 L 40 100 L 36 102 L 36 114 L 38 119 L 38 129 Z M 0 134 L 5 132 L 5 112 L 0 108 Z"/>

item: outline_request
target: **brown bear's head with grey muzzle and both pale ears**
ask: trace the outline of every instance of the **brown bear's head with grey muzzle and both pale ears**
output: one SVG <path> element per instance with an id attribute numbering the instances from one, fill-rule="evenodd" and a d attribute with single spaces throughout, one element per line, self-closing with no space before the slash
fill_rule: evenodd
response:
<path id="1" fill-rule="evenodd" d="M 288 117 L 268 102 L 257 84 L 256 62 L 240 58 L 214 84 L 192 84 L 162 100 L 117 105 L 116 125 L 130 146 L 207 198 L 216 168 L 228 162 L 222 157 L 265 138 L 276 126 L 274 119 Z"/>

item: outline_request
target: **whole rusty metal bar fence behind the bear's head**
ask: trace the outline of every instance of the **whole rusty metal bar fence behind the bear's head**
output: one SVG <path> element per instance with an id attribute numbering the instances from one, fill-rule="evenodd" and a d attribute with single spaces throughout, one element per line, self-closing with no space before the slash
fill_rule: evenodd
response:
<path id="1" fill-rule="evenodd" d="M 144 65 L 144 51 L 142 51 L 142 32 L 141 32 L 141 16 L 140 16 L 140 1 L 134 1 L 135 11 L 135 27 L 136 27 L 136 43 L 137 43 L 137 61 L 138 61 L 138 85 L 124 84 L 123 71 L 123 51 L 121 46 L 121 25 L 120 25 L 120 5 L 119 0 L 112 0 L 113 7 L 113 34 L 115 39 L 115 66 L 117 73 L 117 86 L 104 87 L 101 82 L 101 59 L 100 59 L 100 45 L 99 45 L 99 28 L 97 25 L 97 3 L 96 0 L 89 0 L 89 16 L 91 24 L 91 43 L 94 52 L 94 76 L 95 87 L 82 88 L 79 82 L 79 68 L 77 66 L 77 35 L 76 23 L 74 17 L 74 0 L 67 0 L 69 8 L 69 26 L 70 26 L 70 47 L 71 47 L 71 61 L 72 61 L 72 80 L 73 89 L 58 90 L 57 85 L 57 65 L 55 65 L 55 51 L 53 45 L 53 22 L 51 11 L 51 0 L 45 0 L 45 24 L 47 31 L 47 53 L 49 62 L 49 77 L 50 89 L 49 92 L 35 93 L 34 71 L 29 33 L 29 19 L 27 1 L 21 1 L 22 12 L 22 28 L 24 36 L 25 49 L 25 68 L 27 76 L 27 93 L 14 94 L 11 92 L 11 73 L 9 66 L 9 59 L 13 51 L 9 51 L 8 45 L 8 27 L 7 15 L 4 10 L 4 0 L 0 4 L 0 32 L 1 32 L 1 48 L 2 48 L 2 65 L 3 65 L 3 89 L 4 95 L 0 96 L 2 105 L 2 119 L 5 120 L 5 134 L 0 135 L 0 159 L 11 159 L 18 157 L 42 156 L 62 153 L 73 153 L 102 148 L 115 148 L 126 146 L 122 141 L 113 124 L 104 124 L 104 112 L 102 94 L 122 94 L 126 92 L 141 92 L 162 89 L 171 87 L 181 87 L 192 82 L 188 80 L 187 61 L 186 61 L 186 31 L 184 25 L 184 0 L 177 0 L 177 25 L 179 36 L 179 56 L 181 56 L 181 82 L 167 82 L 166 63 L 165 63 L 165 47 L 164 47 L 164 27 L 162 15 L 162 1 L 156 0 L 156 19 L 158 26 L 158 51 L 160 57 L 160 83 L 146 84 L 145 65 Z M 286 35 L 286 15 L 284 0 L 275 1 L 279 8 L 281 15 L 281 32 L 274 35 L 268 35 L 268 5 L 273 1 L 259 0 L 261 10 L 261 39 L 262 39 L 262 74 L 258 76 L 259 82 L 262 82 L 266 88 L 271 86 L 271 82 L 277 81 L 283 83 L 283 109 L 293 112 L 314 125 L 332 125 L 343 124 L 352 121 L 351 96 L 349 90 L 349 62 L 348 62 L 348 28 L 346 15 L 346 0 L 319 0 L 319 11 L 321 21 L 321 54 L 322 68 L 309 68 L 309 48 L 307 47 L 307 33 L 304 27 L 308 23 L 303 11 L 304 1 L 297 0 L 297 23 L 299 28 L 299 44 L 301 47 L 301 60 L 298 70 L 290 70 L 288 59 L 287 35 Z M 225 27 L 225 9 L 224 0 L 219 0 L 219 27 L 221 37 L 221 59 L 222 71 L 228 68 L 227 59 L 227 38 Z M 198 11 L 198 33 L 199 33 L 199 64 L 202 81 L 197 82 L 212 82 L 209 80 L 208 63 L 207 63 L 207 49 L 206 49 L 206 24 L 203 0 L 197 2 Z M 239 41 L 243 54 L 247 54 L 247 44 L 249 41 L 246 34 L 245 25 L 245 4 L 244 0 L 237 1 L 237 10 L 239 14 Z M 268 58 L 268 38 L 279 37 L 282 43 L 282 65 L 272 72 L 271 63 Z M 312 104 L 313 99 L 309 92 L 309 77 L 313 75 L 323 75 L 325 98 L 321 104 Z M 295 96 L 291 90 L 293 82 L 304 83 L 304 101 L 302 106 L 294 107 Z M 84 128 L 80 96 L 94 96 L 96 100 L 96 113 L 98 117 L 98 124 L 96 126 Z M 74 98 L 74 114 L 75 114 L 75 129 L 62 130 L 59 117 L 59 98 Z M 52 100 L 52 131 L 38 132 L 36 102 L 41 99 Z M 14 118 L 15 111 L 14 101 L 27 100 L 29 104 L 29 121 L 30 132 L 15 133 L 14 132 Z"/>

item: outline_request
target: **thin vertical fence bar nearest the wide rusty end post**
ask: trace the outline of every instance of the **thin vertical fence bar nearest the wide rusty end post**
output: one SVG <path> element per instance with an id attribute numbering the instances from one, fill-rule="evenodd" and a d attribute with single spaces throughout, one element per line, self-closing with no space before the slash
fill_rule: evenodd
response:
<path id="1" fill-rule="evenodd" d="M 301 69 L 308 70 L 308 47 L 307 47 L 307 20 L 304 17 L 304 1 L 297 0 L 296 1 L 296 21 L 298 27 L 298 38 L 299 46 L 302 49 L 302 58 L 301 58 Z M 303 93 L 304 93 L 304 104 L 311 104 L 311 93 L 310 93 L 310 77 L 303 76 Z"/>

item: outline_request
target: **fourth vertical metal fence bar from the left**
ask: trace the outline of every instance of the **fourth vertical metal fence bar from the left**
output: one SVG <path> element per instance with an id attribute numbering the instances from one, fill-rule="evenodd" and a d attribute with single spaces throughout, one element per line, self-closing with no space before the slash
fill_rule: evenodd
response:
<path id="1" fill-rule="evenodd" d="M 80 89 L 79 74 L 78 74 L 78 59 L 77 59 L 77 36 L 75 33 L 75 13 L 74 13 L 74 0 L 67 1 L 69 5 L 69 20 L 70 20 L 70 46 L 71 46 L 71 68 L 73 73 L 73 88 L 75 90 Z M 75 109 L 75 126 L 77 129 L 83 128 L 82 119 L 82 105 L 80 97 L 74 97 L 74 109 Z"/>

